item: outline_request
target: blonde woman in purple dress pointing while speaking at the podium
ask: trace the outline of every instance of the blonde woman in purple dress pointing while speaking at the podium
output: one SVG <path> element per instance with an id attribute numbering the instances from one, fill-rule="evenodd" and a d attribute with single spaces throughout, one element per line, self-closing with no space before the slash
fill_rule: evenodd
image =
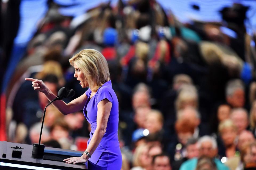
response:
<path id="1" fill-rule="evenodd" d="M 118 100 L 112 89 L 107 61 L 97 50 L 84 49 L 69 62 L 75 68 L 74 77 L 82 88 L 89 88 L 68 104 L 57 100 L 53 105 L 64 115 L 83 110 L 91 124 L 91 132 L 83 155 L 63 161 L 74 164 L 88 161 L 88 169 L 121 169 L 122 156 L 117 136 Z M 34 90 L 43 92 L 50 101 L 56 97 L 42 80 L 26 80 L 32 81 Z"/>

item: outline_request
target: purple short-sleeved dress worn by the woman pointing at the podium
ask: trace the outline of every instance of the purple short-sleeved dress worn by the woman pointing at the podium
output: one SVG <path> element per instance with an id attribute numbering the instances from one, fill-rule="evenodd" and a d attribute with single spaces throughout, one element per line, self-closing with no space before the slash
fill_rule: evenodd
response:
<path id="1" fill-rule="evenodd" d="M 112 89 L 111 81 L 104 83 L 95 95 L 90 99 L 91 89 L 89 88 L 85 94 L 88 96 L 83 109 L 83 113 L 87 121 L 91 124 L 90 139 L 93 137 L 94 131 L 97 127 L 97 105 L 103 100 L 107 99 L 112 103 L 109 119 L 107 121 L 107 129 L 98 147 L 88 160 L 88 169 L 121 169 L 122 156 L 118 142 L 118 100 L 117 95 Z M 86 114 L 87 111 L 87 114 Z"/>

